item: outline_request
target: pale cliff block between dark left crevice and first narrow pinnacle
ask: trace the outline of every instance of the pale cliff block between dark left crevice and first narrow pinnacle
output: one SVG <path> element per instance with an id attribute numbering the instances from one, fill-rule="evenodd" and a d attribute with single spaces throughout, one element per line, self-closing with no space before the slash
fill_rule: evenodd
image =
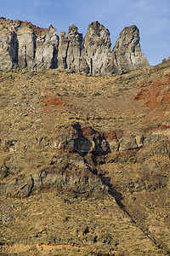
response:
<path id="1" fill-rule="evenodd" d="M 19 42 L 18 65 L 28 70 L 42 70 L 57 67 L 58 38 L 56 29 L 37 33 L 34 28 L 20 26 L 17 31 Z"/>

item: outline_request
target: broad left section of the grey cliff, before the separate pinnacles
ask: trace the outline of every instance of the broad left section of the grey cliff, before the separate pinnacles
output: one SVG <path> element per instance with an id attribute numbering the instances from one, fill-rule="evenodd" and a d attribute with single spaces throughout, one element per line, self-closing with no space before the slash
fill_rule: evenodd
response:
<path id="1" fill-rule="evenodd" d="M 57 67 L 59 39 L 54 26 L 42 29 L 31 22 L 0 20 L 0 68 L 42 70 Z"/>

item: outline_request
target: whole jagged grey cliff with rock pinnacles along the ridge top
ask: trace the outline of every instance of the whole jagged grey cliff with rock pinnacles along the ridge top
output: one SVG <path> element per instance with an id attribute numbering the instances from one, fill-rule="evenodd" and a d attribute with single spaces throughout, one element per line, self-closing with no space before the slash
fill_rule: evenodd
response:
<path id="1" fill-rule="evenodd" d="M 111 51 L 110 32 L 99 21 L 88 26 L 85 38 L 69 27 L 56 35 L 54 26 L 43 29 L 30 22 L 0 18 L 0 69 L 73 69 L 85 73 L 126 73 L 149 66 L 141 54 L 139 29 L 123 29 Z"/>

